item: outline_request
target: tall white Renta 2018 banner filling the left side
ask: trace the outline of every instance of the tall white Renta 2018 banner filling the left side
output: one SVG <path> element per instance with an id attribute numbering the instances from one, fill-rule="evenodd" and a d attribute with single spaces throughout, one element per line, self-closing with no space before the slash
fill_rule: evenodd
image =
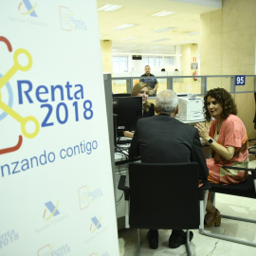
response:
<path id="1" fill-rule="evenodd" d="M 0 25 L 0 255 L 119 255 L 96 0 Z"/>

